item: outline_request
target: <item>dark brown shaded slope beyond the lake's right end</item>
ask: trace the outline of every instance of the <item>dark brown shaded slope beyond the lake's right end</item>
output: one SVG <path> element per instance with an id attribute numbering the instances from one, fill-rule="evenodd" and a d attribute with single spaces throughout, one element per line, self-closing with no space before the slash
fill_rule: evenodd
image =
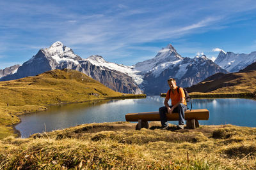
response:
<path id="1" fill-rule="evenodd" d="M 188 92 L 256 92 L 256 70 L 241 73 L 217 73 L 186 88 Z"/>

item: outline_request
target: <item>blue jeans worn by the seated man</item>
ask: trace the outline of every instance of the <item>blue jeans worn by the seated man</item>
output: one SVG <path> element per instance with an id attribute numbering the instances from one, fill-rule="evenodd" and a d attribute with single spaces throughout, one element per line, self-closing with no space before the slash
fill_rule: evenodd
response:
<path id="1" fill-rule="evenodd" d="M 170 106 L 170 108 L 172 108 L 172 106 Z M 179 113 L 179 125 L 184 125 L 185 122 L 185 111 L 187 110 L 187 106 L 185 104 L 179 104 L 179 106 L 177 106 L 174 110 L 173 113 Z M 166 106 L 163 106 L 161 108 L 159 108 L 159 115 L 160 115 L 160 120 L 161 120 L 161 124 L 162 127 L 166 127 L 168 126 L 168 122 L 167 122 L 167 117 L 166 117 L 166 113 L 168 112 Z"/>

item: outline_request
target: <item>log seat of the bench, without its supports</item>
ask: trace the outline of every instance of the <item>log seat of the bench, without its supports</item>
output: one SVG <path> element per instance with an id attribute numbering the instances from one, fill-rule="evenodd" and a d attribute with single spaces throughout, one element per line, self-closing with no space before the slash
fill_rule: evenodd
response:
<path id="1" fill-rule="evenodd" d="M 167 114 L 167 120 L 175 121 L 179 120 L 179 113 Z M 200 109 L 200 110 L 191 110 L 185 112 L 185 120 L 208 120 L 209 119 L 209 110 Z M 160 121 L 160 116 L 158 111 L 153 112 L 141 112 L 141 113 L 127 113 L 125 115 L 125 120 L 127 122 L 138 122 L 141 121 Z"/>

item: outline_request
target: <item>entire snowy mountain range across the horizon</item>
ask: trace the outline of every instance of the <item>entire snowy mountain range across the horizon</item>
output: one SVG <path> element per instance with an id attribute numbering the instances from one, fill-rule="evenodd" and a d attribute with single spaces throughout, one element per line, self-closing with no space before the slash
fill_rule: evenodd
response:
<path id="1" fill-rule="evenodd" d="M 244 62 L 243 59 L 237 58 L 234 53 L 223 51 L 220 52 L 215 62 L 205 55 L 195 56 L 191 59 L 182 57 L 172 45 L 167 45 L 152 59 L 138 62 L 134 66 L 124 66 L 108 62 L 99 55 L 92 55 L 83 59 L 76 55 L 71 48 L 57 41 L 49 48 L 40 49 L 22 66 L 13 66 L 9 74 L 3 74 L 0 80 L 14 80 L 35 76 L 53 69 L 67 68 L 80 71 L 117 92 L 131 94 L 144 92 L 147 95 L 158 95 L 168 90 L 166 80 L 170 77 L 175 78 L 178 85 L 190 87 L 212 74 L 228 73 L 228 71 L 232 72 L 237 68 L 243 69 L 256 59 L 256 52 L 239 56 L 250 58 L 250 60 Z"/>

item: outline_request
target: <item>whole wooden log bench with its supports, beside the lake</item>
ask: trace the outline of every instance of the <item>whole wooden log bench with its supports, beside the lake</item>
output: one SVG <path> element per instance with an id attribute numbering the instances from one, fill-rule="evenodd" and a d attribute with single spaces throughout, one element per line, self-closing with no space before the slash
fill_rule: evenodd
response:
<path id="1" fill-rule="evenodd" d="M 179 113 L 167 114 L 168 121 L 179 120 Z M 198 120 L 208 120 L 209 119 L 209 110 L 200 109 L 200 110 L 191 110 L 185 112 L 186 126 L 188 129 L 195 129 L 199 127 Z M 138 122 L 136 129 L 140 130 L 141 128 L 148 129 L 148 121 L 160 121 L 160 115 L 158 111 L 154 112 L 141 112 L 141 113 L 127 113 L 125 115 L 125 120 L 127 122 Z"/>

